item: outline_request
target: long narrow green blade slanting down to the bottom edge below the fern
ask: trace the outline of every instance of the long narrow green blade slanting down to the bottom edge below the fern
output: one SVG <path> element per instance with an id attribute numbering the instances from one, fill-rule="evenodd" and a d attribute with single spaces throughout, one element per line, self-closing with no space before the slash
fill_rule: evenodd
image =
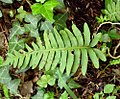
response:
<path id="1" fill-rule="evenodd" d="M 61 73 L 60 73 L 60 70 L 58 69 L 58 76 L 59 76 L 59 79 L 62 81 L 62 84 L 63 84 L 63 87 L 66 89 L 66 91 L 70 94 L 70 96 L 73 98 L 73 99 L 78 99 L 77 96 L 72 92 L 72 90 L 67 86 L 67 84 L 64 82 L 64 80 L 62 79 L 62 76 L 61 76 Z"/>

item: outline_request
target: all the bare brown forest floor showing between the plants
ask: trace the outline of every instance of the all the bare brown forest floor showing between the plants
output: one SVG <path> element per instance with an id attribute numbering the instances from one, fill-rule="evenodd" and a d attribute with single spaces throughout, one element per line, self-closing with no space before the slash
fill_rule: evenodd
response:
<path id="1" fill-rule="evenodd" d="M 69 29 L 71 29 L 73 21 L 81 31 L 83 29 L 84 22 L 87 22 L 90 26 L 91 33 L 95 33 L 97 31 L 98 24 L 96 21 L 96 16 L 99 16 L 101 14 L 101 9 L 104 8 L 103 0 L 65 0 L 64 3 L 66 8 L 69 9 L 69 17 L 66 22 Z M 0 46 L 3 46 L 3 48 L 0 49 L 0 56 L 3 56 L 4 58 L 8 50 L 7 38 L 9 36 L 9 29 L 12 27 L 12 20 L 14 20 L 14 17 L 12 19 L 8 17 L 7 11 L 11 9 L 17 9 L 21 5 L 22 4 L 17 1 L 10 6 L 4 6 L 0 3 L 0 9 L 4 12 L 3 18 L 0 19 Z M 30 10 L 27 3 L 24 4 L 24 7 L 26 10 Z M 99 30 L 104 30 L 106 28 L 110 28 L 110 24 L 102 26 Z M 118 42 L 119 40 L 114 40 L 112 42 L 113 45 L 111 48 L 111 54 L 113 54 L 114 47 Z M 120 54 L 120 48 L 118 49 L 117 54 Z M 110 60 L 109 57 L 107 59 L 108 61 Z M 83 99 L 91 99 L 90 97 L 92 97 L 96 92 L 103 91 L 104 86 L 108 83 L 115 84 L 116 86 L 120 85 L 120 65 L 113 65 L 104 70 L 107 64 L 108 62 L 100 61 L 100 68 L 95 69 L 93 68 L 92 63 L 89 62 L 87 75 L 85 77 L 82 76 L 82 74 L 80 74 L 78 71 L 73 78 L 81 87 L 74 89 L 73 92 L 76 93 L 77 96 L 81 96 Z M 116 73 L 117 71 L 119 73 Z M 11 68 L 10 72 L 13 73 L 12 75 L 14 75 L 14 69 L 12 70 Z M 25 75 L 26 82 L 35 78 L 36 72 L 38 71 L 27 71 Z M 33 88 L 35 87 L 36 85 L 33 84 Z M 48 89 L 56 90 L 55 88 L 53 89 L 51 87 Z M 33 94 L 34 93 L 36 93 L 35 89 Z M 117 99 L 119 99 L 119 97 L 120 92 L 117 94 Z"/>

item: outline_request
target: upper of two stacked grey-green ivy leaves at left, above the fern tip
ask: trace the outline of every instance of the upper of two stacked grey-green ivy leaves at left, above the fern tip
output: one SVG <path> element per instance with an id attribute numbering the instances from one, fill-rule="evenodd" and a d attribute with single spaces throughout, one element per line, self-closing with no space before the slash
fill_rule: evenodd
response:
<path id="1" fill-rule="evenodd" d="M 14 36 L 17 36 L 19 34 L 23 34 L 24 32 L 25 32 L 24 27 L 20 26 L 19 21 L 15 21 L 12 24 L 12 29 L 11 29 L 11 32 L 10 32 L 10 38 L 9 39 L 12 39 Z"/>

